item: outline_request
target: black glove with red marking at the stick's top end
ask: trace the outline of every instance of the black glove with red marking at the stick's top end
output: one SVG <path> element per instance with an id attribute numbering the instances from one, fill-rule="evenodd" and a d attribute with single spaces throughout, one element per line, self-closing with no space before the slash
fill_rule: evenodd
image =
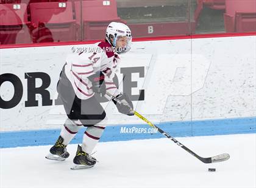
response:
<path id="1" fill-rule="evenodd" d="M 94 75 L 88 76 L 88 79 L 93 85 L 93 92 L 101 93 L 101 96 L 104 96 L 106 93 L 106 85 L 104 81 L 104 74 L 102 72 L 97 72 Z"/>

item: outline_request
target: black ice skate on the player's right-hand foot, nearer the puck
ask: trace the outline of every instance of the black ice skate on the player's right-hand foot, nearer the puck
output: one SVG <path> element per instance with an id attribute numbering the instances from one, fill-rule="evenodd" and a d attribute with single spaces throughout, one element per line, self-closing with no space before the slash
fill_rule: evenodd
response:
<path id="1" fill-rule="evenodd" d="M 78 145 L 76 156 L 73 159 L 75 165 L 71 167 L 71 169 L 88 169 L 93 167 L 96 164 L 96 161 L 97 160 L 95 158 L 84 152 L 82 147 Z"/>

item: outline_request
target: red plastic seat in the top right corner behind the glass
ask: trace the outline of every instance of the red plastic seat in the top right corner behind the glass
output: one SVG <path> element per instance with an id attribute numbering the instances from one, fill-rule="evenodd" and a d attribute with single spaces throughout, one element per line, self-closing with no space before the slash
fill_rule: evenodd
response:
<path id="1" fill-rule="evenodd" d="M 256 1 L 228 1 L 224 13 L 226 32 L 256 31 Z"/>

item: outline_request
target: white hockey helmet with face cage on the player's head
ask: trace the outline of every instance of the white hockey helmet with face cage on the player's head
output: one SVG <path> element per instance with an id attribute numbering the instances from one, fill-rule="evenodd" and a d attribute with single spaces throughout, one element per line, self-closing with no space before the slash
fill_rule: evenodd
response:
<path id="1" fill-rule="evenodd" d="M 116 49 L 117 53 L 126 53 L 130 50 L 132 44 L 132 32 L 126 24 L 120 22 L 111 22 L 106 30 L 106 39 L 113 46 L 116 47 L 116 41 L 120 36 L 127 37 L 127 44 L 124 48 Z M 113 39 L 113 41 L 112 41 Z"/>

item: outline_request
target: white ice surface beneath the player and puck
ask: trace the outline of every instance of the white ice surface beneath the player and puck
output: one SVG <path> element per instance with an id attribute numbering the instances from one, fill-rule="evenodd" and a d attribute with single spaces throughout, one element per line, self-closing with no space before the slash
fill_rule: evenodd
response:
<path id="1" fill-rule="evenodd" d="M 256 187 L 256 134 L 177 139 L 198 155 L 230 159 L 204 164 L 166 138 L 99 143 L 99 163 L 82 170 L 69 169 L 76 145 L 66 161 L 45 159 L 51 146 L 1 149 L 0 187 Z"/>

